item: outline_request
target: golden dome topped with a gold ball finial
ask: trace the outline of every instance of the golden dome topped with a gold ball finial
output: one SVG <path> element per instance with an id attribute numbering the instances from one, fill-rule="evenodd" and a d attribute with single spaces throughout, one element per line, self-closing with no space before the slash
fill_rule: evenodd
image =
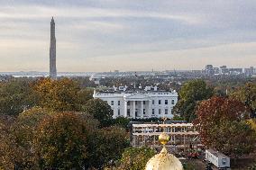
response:
<path id="1" fill-rule="evenodd" d="M 183 170 L 183 166 L 177 157 L 168 153 L 165 144 L 169 141 L 169 135 L 162 133 L 159 136 L 160 143 L 164 145 L 160 154 L 151 157 L 145 170 Z"/>

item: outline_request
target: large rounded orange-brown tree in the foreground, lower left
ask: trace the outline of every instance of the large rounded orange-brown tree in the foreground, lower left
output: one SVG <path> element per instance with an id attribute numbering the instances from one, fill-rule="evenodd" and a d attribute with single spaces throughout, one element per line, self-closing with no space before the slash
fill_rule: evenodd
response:
<path id="1" fill-rule="evenodd" d="M 40 167 L 82 169 L 88 131 L 85 121 L 73 112 L 61 112 L 41 121 L 34 138 Z"/>

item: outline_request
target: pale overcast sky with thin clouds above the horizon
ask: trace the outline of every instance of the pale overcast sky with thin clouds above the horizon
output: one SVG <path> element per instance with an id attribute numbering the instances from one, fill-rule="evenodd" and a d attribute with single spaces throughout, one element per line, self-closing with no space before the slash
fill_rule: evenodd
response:
<path id="1" fill-rule="evenodd" d="M 256 66 L 256 1 L 0 0 L 0 71 Z"/>

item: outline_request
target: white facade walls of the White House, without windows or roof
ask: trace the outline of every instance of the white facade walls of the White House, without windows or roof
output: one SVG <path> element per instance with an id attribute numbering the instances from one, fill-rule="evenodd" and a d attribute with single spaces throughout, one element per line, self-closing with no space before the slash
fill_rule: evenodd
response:
<path id="1" fill-rule="evenodd" d="M 144 98 L 143 98 L 144 95 Z M 178 94 L 176 92 L 148 92 L 148 93 L 135 93 L 135 94 L 125 94 L 122 93 L 96 93 L 94 98 L 102 99 L 106 101 L 114 111 L 114 118 L 118 116 L 125 117 L 125 101 L 130 101 L 130 105 L 127 104 L 126 112 L 129 114 L 130 118 L 134 118 L 133 102 L 135 104 L 135 111 L 137 112 L 136 118 L 151 118 L 151 117 L 168 117 L 172 118 L 172 109 L 176 103 L 178 103 Z M 167 100 L 167 104 L 165 101 Z M 143 101 L 145 101 L 143 103 Z M 159 103 L 160 101 L 160 103 Z M 120 105 L 118 105 L 120 103 Z M 145 114 L 143 114 L 143 109 Z M 154 114 L 152 113 L 154 110 Z M 166 111 L 167 110 L 167 114 Z M 128 115 L 129 117 L 129 115 Z"/>

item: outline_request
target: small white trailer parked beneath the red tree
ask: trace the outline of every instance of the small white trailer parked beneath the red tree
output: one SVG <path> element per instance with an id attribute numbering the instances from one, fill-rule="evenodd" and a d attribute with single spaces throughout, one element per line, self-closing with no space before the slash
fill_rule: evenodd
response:
<path id="1" fill-rule="evenodd" d="M 218 168 L 230 167 L 230 157 L 213 149 L 206 149 L 206 160 Z"/>

